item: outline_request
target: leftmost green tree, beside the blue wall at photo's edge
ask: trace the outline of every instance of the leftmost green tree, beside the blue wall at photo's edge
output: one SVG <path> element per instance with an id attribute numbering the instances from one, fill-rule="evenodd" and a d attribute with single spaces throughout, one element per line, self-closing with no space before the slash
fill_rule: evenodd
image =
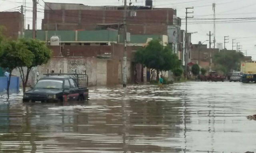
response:
<path id="1" fill-rule="evenodd" d="M 8 68 L 10 71 L 7 84 L 7 96 L 9 98 L 12 71 L 17 67 L 29 67 L 32 64 L 34 55 L 28 50 L 26 45 L 20 41 L 3 40 L 0 46 L 0 67 Z"/>

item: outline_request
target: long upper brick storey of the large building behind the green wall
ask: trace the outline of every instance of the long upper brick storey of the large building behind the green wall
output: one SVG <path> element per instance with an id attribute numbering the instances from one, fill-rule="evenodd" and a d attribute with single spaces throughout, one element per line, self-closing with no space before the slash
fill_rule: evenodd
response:
<path id="1" fill-rule="evenodd" d="M 45 4 L 42 29 L 93 30 L 106 27 L 122 29 L 124 6 L 86 6 L 83 4 Z M 172 8 L 152 9 L 130 6 L 127 11 L 127 31 L 131 34 L 164 34 L 173 25 L 176 11 Z"/>

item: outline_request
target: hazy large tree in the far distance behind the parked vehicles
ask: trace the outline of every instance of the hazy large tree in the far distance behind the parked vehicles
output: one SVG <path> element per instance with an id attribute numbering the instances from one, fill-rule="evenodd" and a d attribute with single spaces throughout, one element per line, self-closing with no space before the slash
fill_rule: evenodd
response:
<path id="1" fill-rule="evenodd" d="M 213 57 L 216 71 L 227 74 L 231 71 L 240 71 L 240 62 L 244 58 L 242 52 L 222 50 Z"/>

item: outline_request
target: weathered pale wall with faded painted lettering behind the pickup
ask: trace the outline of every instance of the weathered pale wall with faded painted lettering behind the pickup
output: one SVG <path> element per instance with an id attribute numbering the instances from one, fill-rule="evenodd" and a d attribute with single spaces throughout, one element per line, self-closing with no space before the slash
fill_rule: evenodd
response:
<path id="1" fill-rule="evenodd" d="M 86 74 L 89 77 L 88 85 L 113 85 L 122 83 L 122 61 L 116 59 L 98 59 L 96 57 L 52 57 L 45 65 L 35 67 L 31 70 L 28 77 L 28 86 L 36 83 L 36 73 L 39 78 L 45 77 L 43 74 L 51 71 L 54 73 L 75 73 Z M 127 80 L 131 82 L 131 62 L 127 61 Z M 13 75 L 20 76 L 19 70 L 16 69 Z M 21 80 L 20 80 L 21 82 Z M 82 86 L 85 80 L 80 80 Z M 20 86 L 22 84 L 20 83 Z"/>

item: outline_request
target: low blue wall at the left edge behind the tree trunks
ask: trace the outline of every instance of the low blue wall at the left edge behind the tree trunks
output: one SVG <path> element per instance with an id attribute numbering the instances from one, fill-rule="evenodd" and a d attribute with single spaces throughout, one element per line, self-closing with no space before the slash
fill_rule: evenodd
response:
<path id="1" fill-rule="evenodd" d="M 6 92 L 7 90 L 7 77 L 0 77 L 0 92 Z M 11 77 L 10 82 L 10 93 L 18 93 L 20 92 L 20 78 L 19 77 Z"/>

